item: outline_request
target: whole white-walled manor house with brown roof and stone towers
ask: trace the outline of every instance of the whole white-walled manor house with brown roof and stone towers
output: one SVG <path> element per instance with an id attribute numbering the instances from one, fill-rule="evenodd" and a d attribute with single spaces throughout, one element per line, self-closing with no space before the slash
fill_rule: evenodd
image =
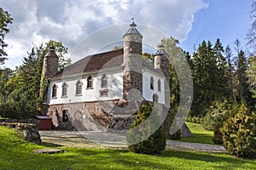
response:
<path id="1" fill-rule="evenodd" d="M 50 48 L 42 72 L 49 80 L 43 112 L 55 128 L 127 129 L 143 101 L 169 109 L 168 55 L 159 47 L 154 66 L 144 61 L 143 36 L 134 22 L 130 26 L 124 48 L 87 56 L 63 71 Z"/>

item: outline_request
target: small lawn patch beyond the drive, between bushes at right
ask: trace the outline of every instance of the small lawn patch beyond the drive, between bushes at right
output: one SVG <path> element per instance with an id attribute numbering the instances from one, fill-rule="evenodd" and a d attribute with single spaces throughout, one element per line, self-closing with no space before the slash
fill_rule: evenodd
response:
<path id="1" fill-rule="evenodd" d="M 213 144 L 212 142 L 212 131 L 207 131 L 203 127 L 201 127 L 201 124 L 192 123 L 192 122 L 186 122 L 188 125 L 190 131 L 193 133 L 193 136 L 182 138 L 180 141 L 183 142 L 195 142 L 195 143 L 201 143 L 201 144 Z"/>

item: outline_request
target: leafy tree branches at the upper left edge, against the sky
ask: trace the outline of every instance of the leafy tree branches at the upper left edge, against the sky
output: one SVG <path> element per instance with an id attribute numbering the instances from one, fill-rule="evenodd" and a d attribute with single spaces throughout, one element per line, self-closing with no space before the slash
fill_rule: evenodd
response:
<path id="1" fill-rule="evenodd" d="M 4 37 L 9 33 L 8 26 L 12 24 L 12 20 L 13 18 L 11 18 L 10 14 L 0 7 L 0 65 L 3 65 L 4 60 L 7 59 L 5 57 L 7 54 L 3 49 L 6 48 L 8 44 L 4 42 Z"/>

